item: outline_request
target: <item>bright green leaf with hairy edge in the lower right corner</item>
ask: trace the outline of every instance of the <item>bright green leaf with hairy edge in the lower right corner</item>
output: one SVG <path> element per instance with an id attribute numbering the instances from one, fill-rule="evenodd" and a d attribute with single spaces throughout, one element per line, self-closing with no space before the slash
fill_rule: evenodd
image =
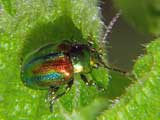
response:
<path id="1" fill-rule="evenodd" d="M 98 120 L 159 120 L 160 38 L 146 48 L 134 66 L 137 81 Z"/>

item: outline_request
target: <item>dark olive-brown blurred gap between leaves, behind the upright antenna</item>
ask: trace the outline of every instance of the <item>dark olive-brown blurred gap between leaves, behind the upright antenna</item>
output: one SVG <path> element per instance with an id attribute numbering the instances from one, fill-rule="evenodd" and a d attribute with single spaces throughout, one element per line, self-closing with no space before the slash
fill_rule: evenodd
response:
<path id="1" fill-rule="evenodd" d="M 102 20 L 108 25 L 118 10 L 115 9 L 113 0 L 103 0 L 100 5 L 102 7 Z M 152 36 L 137 31 L 121 16 L 106 40 L 108 60 L 111 66 L 131 71 L 137 57 L 145 53 L 143 45 L 151 42 Z"/>

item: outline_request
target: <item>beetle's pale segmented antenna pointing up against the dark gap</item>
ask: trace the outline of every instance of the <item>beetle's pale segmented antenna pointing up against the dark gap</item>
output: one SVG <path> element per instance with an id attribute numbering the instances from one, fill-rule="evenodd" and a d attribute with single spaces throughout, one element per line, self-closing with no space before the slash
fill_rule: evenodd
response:
<path id="1" fill-rule="evenodd" d="M 112 18 L 112 20 L 110 21 L 108 26 L 105 26 L 105 34 L 103 36 L 102 41 L 105 41 L 105 39 L 108 37 L 109 33 L 111 32 L 113 26 L 115 25 L 115 23 L 117 22 L 118 18 L 121 15 L 121 11 L 119 11 L 118 13 L 116 13 L 116 15 Z"/>

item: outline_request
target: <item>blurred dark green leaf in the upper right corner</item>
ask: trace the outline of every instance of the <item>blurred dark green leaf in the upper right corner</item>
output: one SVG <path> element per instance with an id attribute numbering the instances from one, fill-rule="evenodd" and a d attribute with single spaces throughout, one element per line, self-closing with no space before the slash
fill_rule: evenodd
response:
<path id="1" fill-rule="evenodd" d="M 114 0 L 130 24 L 143 32 L 160 35 L 159 0 Z"/>

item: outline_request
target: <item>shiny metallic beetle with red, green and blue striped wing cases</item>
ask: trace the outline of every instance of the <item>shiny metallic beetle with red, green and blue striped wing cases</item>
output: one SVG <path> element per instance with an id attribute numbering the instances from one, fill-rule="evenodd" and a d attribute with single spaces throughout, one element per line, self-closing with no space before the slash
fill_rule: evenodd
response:
<path id="1" fill-rule="evenodd" d="M 110 22 L 104 39 L 119 15 L 118 13 Z M 79 73 L 81 79 L 90 84 L 85 75 L 98 66 L 112 69 L 103 62 L 99 52 L 91 44 L 63 41 L 55 47 L 50 43 L 35 50 L 24 59 L 21 78 L 27 87 L 49 89 L 48 101 L 52 111 L 54 101 L 71 88 L 75 73 Z M 66 90 L 58 93 L 62 85 L 66 85 Z"/>

